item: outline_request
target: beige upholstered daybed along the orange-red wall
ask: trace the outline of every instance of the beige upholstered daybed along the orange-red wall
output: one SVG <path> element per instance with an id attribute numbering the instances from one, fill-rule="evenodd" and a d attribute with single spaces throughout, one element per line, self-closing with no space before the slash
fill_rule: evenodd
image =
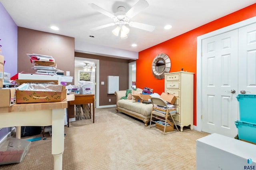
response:
<path id="1" fill-rule="evenodd" d="M 136 91 L 142 92 L 142 89 Z M 135 92 L 135 91 L 134 91 Z M 148 126 L 150 121 L 152 104 L 144 104 L 136 102 L 135 100 L 121 99 L 126 96 L 126 90 L 120 90 L 115 92 L 116 95 L 116 112 L 120 111 L 132 117 L 142 120 L 145 126 Z"/>

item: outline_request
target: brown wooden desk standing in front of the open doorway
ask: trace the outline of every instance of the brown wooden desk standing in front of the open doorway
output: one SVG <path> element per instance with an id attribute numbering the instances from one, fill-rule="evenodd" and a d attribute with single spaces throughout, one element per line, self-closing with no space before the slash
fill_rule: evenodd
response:
<path id="1" fill-rule="evenodd" d="M 90 115 L 91 112 L 94 123 L 94 94 L 76 94 L 75 100 L 68 101 L 68 127 L 69 127 L 69 119 L 75 117 L 74 113 L 74 105 L 78 104 L 89 104 L 90 107 Z M 92 109 L 91 109 L 92 104 Z"/>

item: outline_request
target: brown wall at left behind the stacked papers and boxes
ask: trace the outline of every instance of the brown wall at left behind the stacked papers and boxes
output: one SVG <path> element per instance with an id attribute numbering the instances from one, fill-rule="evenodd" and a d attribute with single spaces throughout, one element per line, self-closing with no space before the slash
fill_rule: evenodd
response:
<path id="1" fill-rule="evenodd" d="M 18 27 L 18 72 L 34 73 L 30 59 L 26 54 L 51 55 L 57 64 L 57 68 L 70 71 L 74 77 L 74 43 L 73 37 L 46 33 Z M 15 50 L 15 49 L 14 49 Z M 74 84 L 73 82 L 70 84 Z"/>

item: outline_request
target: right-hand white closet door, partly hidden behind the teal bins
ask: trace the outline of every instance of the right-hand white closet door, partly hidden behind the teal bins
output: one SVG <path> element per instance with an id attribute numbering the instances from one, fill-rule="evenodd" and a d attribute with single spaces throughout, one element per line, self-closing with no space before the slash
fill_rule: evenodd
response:
<path id="1" fill-rule="evenodd" d="M 238 92 L 256 94 L 256 23 L 238 29 Z"/>

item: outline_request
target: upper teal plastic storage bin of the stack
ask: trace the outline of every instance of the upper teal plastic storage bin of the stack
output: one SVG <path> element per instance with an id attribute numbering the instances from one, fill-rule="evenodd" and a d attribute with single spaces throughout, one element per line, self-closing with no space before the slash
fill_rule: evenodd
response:
<path id="1" fill-rule="evenodd" d="M 256 95 L 238 94 L 240 121 L 256 123 Z"/>

